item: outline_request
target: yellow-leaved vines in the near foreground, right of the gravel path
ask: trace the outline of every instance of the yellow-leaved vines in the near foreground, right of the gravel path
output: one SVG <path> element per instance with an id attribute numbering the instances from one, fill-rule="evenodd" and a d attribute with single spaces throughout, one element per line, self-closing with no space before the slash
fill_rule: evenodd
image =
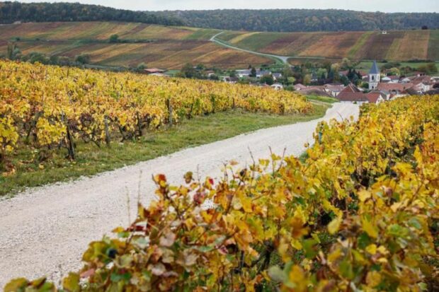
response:
<path id="1" fill-rule="evenodd" d="M 156 175 L 158 200 L 90 243 L 63 289 L 437 291 L 438 117 L 438 95 L 363 105 L 321 122 L 304 161 L 273 153 L 179 187 Z M 28 288 L 57 289 L 5 291 Z"/>

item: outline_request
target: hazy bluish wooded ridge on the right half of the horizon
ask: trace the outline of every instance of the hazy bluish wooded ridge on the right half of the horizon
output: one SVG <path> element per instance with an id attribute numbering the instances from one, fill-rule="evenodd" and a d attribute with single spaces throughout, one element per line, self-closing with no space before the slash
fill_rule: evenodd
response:
<path id="1" fill-rule="evenodd" d="M 438 13 L 381 13 L 346 10 L 267 9 L 161 11 L 185 25 L 222 30 L 273 32 L 410 30 L 439 28 Z"/>

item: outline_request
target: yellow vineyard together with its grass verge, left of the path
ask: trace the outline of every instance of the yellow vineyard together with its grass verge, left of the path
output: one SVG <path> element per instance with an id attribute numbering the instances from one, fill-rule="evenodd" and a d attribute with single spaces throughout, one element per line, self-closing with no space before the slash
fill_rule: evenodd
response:
<path id="1" fill-rule="evenodd" d="M 0 195 L 326 108 L 271 88 L 0 61 Z"/>

